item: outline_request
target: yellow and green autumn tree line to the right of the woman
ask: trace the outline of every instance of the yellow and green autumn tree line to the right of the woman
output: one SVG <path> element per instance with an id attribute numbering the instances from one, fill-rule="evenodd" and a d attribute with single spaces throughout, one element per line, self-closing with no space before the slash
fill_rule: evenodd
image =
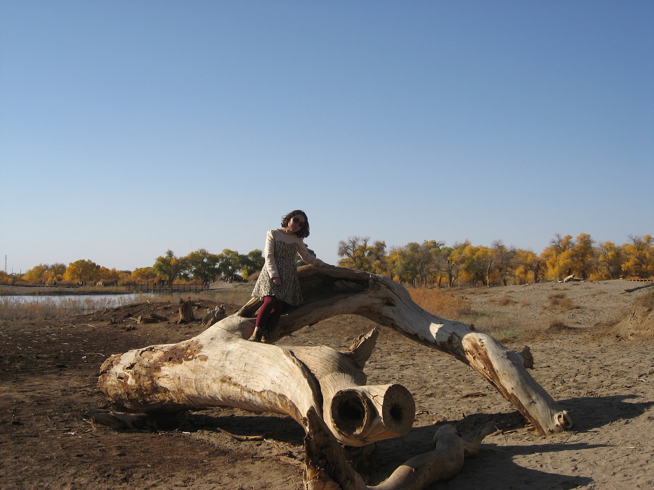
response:
<path id="1" fill-rule="evenodd" d="M 654 240 L 630 236 L 622 245 L 596 242 L 581 233 L 555 235 L 540 255 L 506 246 L 490 247 L 466 240 L 446 246 L 438 240 L 410 242 L 387 251 L 386 242 L 349 237 L 338 244 L 339 265 L 393 278 L 400 284 L 422 286 L 508 286 L 575 276 L 582 280 L 654 277 Z"/>

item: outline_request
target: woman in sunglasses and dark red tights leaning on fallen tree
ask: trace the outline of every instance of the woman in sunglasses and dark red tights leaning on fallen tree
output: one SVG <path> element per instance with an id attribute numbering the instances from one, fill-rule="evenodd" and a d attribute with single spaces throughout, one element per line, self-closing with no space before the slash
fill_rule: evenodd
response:
<path id="1" fill-rule="evenodd" d="M 264 304 L 256 316 L 254 333 L 249 340 L 267 342 L 286 304 L 298 306 L 302 302 L 296 255 L 307 264 L 333 267 L 317 259 L 304 244 L 309 236 L 309 220 L 301 210 L 291 211 L 282 219 L 282 227 L 266 234 L 264 257 L 266 263 L 259 274 L 252 297 L 263 298 Z"/>

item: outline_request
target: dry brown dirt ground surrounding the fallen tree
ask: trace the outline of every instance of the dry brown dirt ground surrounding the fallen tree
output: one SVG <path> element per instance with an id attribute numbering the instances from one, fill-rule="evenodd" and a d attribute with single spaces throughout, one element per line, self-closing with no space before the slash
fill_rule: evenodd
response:
<path id="1" fill-rule="evenodd" d="M 439 423 L 465 429 L 494 419 L 500 433 L 432 490 L 652 489 L 654 328 L 640 323 L 634 336 L 633 325 L 610 331 L 632 314 L 635 300 L 651 295 L 653 288 L 623 292 L 634 286 L 610 281 L 455 291 L 472 301 L 473 310 L 490 312 L 477 316 L 477 327 L 508 325 L 530 335 L 532 376 L 576 424 L 548 437 L 530 430 L 466 365 L 382 329 L 366 365 L 368 381 L 404 384 L 415 397 L 416 418 L 407 436 L 377 443 L 371 484 L 430 450 Z M 212 306 L 200 301 L 196 316 Z M 638 308 L 647 316 L 646 304 Z M 228 314 L 235 310 L 228 305 Z M 135 325 L 133 318 L 152 312 L 171 321 Z M 193 412 L 159 430 L 115 431 L 91 423 L 88 408 L 107 408 L 96 387 L 101 363 L 113 353 L 202 330 L 199 321 L 177 325 L 177 318 L 177 304 L 155 302 L 0 323 L 0 488 L 300 489 L 303 431 L 288 417 L 221 408 Z M 279 344 L 342 349 L 372 326 L 338 316 Z M 505 343 L 519 350 L 524 342 Z"/>

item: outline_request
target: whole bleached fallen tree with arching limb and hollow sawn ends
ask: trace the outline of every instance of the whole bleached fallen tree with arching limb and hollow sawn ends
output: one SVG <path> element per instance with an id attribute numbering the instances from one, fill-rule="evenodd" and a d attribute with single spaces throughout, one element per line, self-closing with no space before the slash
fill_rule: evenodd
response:
<path id="1" fill-rule="evenodd" d="M 298 274 L 305 301 L 282 316 L 269 342 L 322 319 L 357 314 L 470 365 L 540 433 L 558 433 L 572 427 L 568 412 L 560 410 L 528 374 L 526 368 L 532 365 L 528 348 L 522 353 L 511 351 L 471 325 L 434 316 L 417 306 L 404 287 L 383 276 L 313 266 L 300 267 Z M 311 438 L 315 427 L 324 424 L 337 442 L 348 446 L 364 446 L 410 430 L 415 404 L 409 391 L 396 384 L 366 385 L 363 367 L 375 344 L 377 329 L 357 338 L 345 352 L 326 346 L 281 348 L 248 342 L 261 304 L 260 299 L 252 299 L 236 314 L 184 342 L 113 355 L 101 367 L 99 388 L 114 406 L 131 412 L 232 406 L 286 414 L 301 424 L 307 437 Z M 316 418 L 320 423 L 315 422 Z M 460 447 L 451 434 L 444 440 L 449 440 L 452 448 Z M 425 465 L 432 465 L 432 456 L 417 463 L 421 472 Z M 323 466 L 333 464 L 317 459 Z M 307 452 L 307 471 L 310 461 Z M 460 469 L 458 463 L 455 468 Z M 429 484 L 425 482 L 443 478 L 439 470 L 434 471 L 428 470 L 431 476 L 411 486 L 388 483 L 383 488 L 419 489 Z M 409 473 L 416 472 L 414 469 Z M 318 473 L 319 468 L 311 470 L 314 476 Z M 343 489 L 359 488 L 358 483 L 351 486 L 338 478 Z M 398 482 L 404 481 L 404 477 L 397 478 Z"/>

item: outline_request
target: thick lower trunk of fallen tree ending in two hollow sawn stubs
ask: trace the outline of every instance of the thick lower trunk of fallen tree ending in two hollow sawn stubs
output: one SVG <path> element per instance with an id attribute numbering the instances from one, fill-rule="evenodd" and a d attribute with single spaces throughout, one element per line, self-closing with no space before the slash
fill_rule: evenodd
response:
<path id="1" fill-rule="evenodd" d="M 232 406 L 287 415 L 303 424 L 313 408 L 348 446 L 411 430 L 415 402 L 405 387 L 365 385 L 362 369 L 377 329 L 354 340 L 344 353 L 325 346 L 291 350 L 248 342 L 220 328 L 234 327 L 230 318 L 179 344 L 110 357 L 101 367 L 101 391 L 113 404 L 135 412 Z"/>

